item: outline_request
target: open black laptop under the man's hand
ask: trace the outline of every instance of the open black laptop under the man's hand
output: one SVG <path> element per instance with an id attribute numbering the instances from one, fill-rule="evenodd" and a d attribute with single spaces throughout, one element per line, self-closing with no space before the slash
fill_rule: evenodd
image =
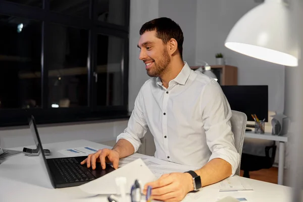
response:
<path id="1" fill-rule="evenodd" d="M 106 164 L 106 169 L 102 169 L 100 163 L 96 163 L 95 170 L 91 167 L 87 168 L 86 164 L 81 165 L 87 156 L 83 157 L 67 157 L 67 158 L 45 158 L 43 146 L 39 137 L 35 119 L 31 116 L 29 119 L 29 127 L 34 137 L 35 144 L 48 173 L 49 179 L 54 188 L 63 188 L 78 186 L 92 181 L 96 178 L 102 177 L 115 169 L 109 164 Z M 51 151 L 52 152 L 52 151 Z"/>

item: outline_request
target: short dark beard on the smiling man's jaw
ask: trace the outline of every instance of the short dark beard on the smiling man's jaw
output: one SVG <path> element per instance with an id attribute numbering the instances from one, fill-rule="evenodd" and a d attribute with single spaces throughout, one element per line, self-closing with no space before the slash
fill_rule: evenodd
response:
<path id="1" fill-rule="evenodd" d="M 157 77 L 165 73 L 165 71 L 168 70 L 168 65 L 170 64 L 170 61 L 171 59 L 168 55 L 167 49 L 164 48 L 163 56 L 157 63 L 156 61 L 154 61 L 154 67 L 147 69 L 147 75 L 150 77 Z"/>

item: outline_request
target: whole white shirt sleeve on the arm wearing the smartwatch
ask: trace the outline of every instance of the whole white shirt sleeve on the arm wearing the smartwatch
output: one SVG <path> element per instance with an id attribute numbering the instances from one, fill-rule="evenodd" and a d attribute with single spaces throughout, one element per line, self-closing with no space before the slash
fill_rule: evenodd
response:
<path id="1" fill-rule="evenodd" d="M 235 148 L 234 134 L 231 131 L 230 118 L 232 116 L 227 99 L 216 81 L 210 81 L 202 92 L 204 129 L 207 144 L 212 152 L 209 159 L 220 158 L 232 167 L 235 174 L 240 155 Z"/>

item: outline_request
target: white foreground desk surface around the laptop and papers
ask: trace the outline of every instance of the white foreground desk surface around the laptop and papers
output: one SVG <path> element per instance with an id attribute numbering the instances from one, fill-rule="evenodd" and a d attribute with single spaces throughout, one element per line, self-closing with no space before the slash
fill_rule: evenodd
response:
<path id="1" fill-rule="evenodd" d="M 72 147 L 91 146 L 95 148 L 109 147 L 86 140 L 75 140 L 68 142 L 59 142 L 52 144 L 43 144 L 44 148 L 51 151 L 61 150 Z M 23 148 L 23 147 L 22 147 Z M 11 148 L 21 150 L 19 148 Z M 60 153 L 54 152 L 54 155 Z M 290 201 L 291 188 L 252 180 L 247 178 L 241 180 L 247 181 L 254 191 L 238 191 L 226 194 L 245 197 L 247 202 L 251 201 Z M 211 191 L 216 189 L 218 184 L 202 188 L 196 201 L 208 201 Z M 102 188 L 102 187 L 100 187 Z M 213 193 L 213 192 L 212 192 Z M 219 191 L 218 191 L 219 194 Z M 0 164 L 0 201 L 108 201 L 105 195 L 87 197 L 78 187 L 54 189 L 49 181 L 46 170 L 43 167 L 40 157 L 27 157 L 24 154 L 6 159 Z M 215 200 L 216 201 L 216 200 Z"/>

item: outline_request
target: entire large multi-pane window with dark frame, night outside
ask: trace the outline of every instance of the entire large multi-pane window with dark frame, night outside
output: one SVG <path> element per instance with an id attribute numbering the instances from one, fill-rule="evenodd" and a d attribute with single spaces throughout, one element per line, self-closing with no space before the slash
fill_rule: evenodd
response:
<path id="1" fill-rule="evenodd" d="M 0 127 L 129 117 L 130 0 L 0 0 Z"/>

